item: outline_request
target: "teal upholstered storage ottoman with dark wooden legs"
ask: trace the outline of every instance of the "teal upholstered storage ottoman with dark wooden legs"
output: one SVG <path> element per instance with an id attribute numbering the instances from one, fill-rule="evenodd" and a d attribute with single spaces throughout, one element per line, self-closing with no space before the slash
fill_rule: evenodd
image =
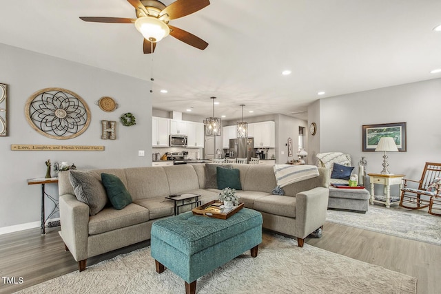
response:
<path id="1" fill-rule="evenodd" d="M 185 292 L 196 293 L 196 280 L 262 242 L 262 215 L 240 209 L 227 220 L 181 213 L 152 224 L 151 254 L 156 272 L 164 266 L 185 281 Z"/>

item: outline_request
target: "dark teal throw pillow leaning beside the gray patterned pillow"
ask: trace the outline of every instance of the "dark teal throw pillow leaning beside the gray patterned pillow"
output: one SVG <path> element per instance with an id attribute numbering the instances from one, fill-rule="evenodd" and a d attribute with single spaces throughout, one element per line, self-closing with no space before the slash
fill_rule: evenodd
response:
<path id="1" fill-rule="evenodd" d="M 123 209 L 132 203 L 132 196 L 120 178 L 112 174 L 103 173 L 101 174 L 101 182 L 103 182 L 107 197 L 115 209 Z"/>

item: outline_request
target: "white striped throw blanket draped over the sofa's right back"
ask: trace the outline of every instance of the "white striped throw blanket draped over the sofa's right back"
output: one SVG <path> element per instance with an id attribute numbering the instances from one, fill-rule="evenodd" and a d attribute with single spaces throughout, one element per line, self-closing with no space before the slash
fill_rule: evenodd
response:
<path id="1" fill-rule="evenodd" d="M 293 182 L 318 177 L 318 169 L 315 165 L 274 165 L 274 175 L 277 186 L 282 188 Z"/>

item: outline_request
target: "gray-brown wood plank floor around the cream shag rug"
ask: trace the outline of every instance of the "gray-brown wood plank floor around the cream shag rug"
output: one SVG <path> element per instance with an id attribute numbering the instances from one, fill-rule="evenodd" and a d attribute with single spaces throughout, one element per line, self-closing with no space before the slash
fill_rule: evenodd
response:
<path id="1" fill-rule="evenodd" d="M 39 229 L 0 235 L 0 293 L 19 291 L 78 269 L 72 255 L 64 251 L 58 231 L 59 227 L 47 229 L 44 236 Z M 307 238 L 305 243 L 417 277 L 419 294 L 441 293 L 441 246 L 331 222 L 326 222 L 322 238 Z M 149 244 L 141 242 L 90 258 L 88 266 Z M 15 277 L 17 284 L 5 284 L 3 277 Z"/>

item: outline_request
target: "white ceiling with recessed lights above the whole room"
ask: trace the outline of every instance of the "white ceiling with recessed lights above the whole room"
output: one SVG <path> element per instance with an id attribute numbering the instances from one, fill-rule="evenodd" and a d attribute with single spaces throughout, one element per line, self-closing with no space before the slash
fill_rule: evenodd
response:
<path id="1" fill-rule="evenodd" d="M 5 0 L 0 43 L 146 83 L 153 76 L 154 109 L 192 107 L 211 116 L 209 97 L 216 96 L 215 116 L 232 120 L 240 104 L 245 118 L 288 114 L 322 97 L 440 78 L 429 73 L 441 67 L 441 32 L 432 30 L 440 12 L 440 0 L 211 0 L 170 21 L 207 41 L 207 49 L 167 36 L 154 54 L 143 54 L 134 25 L 79 19 L 135 18 L 125 0 Z"/>

